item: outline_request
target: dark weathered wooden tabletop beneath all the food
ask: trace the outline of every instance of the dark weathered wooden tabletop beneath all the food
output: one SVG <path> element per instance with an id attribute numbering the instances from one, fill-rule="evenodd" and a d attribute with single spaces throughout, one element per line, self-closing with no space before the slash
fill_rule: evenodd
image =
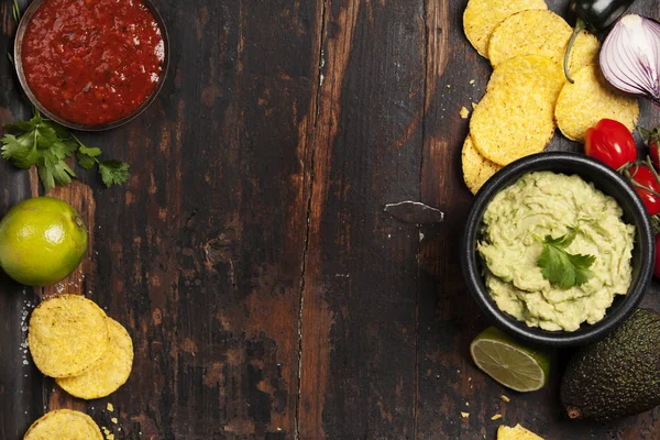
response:
<path id="1" fill-rule="evenodd" d="M 547 439 L 660 438 L 660 410 L 565 419 L 565 351 L 549 386 L 525 395 L 470 360 L 488 323 L 458 258 L 472 201 L 459 110 L 491 68 L 463 35 L 466 0 L 155 3 L 172 42 L 163 92 L 133 122 L 80 134 L 129 161 L 130 182 L 105 189 L 82 172 L 53 191 L 92 238 L 63 289 L 127 326 L 133 373 L 105 399 L 65 395 L 21 345 L 26 312 L 53 288 L 2 275 L 1 439 L 59 407 L 88 411 L 118 440 L 494 439 L 503 422 Z M 549 1 L 560 13 L 566 3 Z M 656 0 L 634 11 L 660 15 Z M 10 12 L 2 1 L 6 50 Z M 4 56 L 0 72 L 0 122 L 28 118 Z M 660 122 L 647 102 L 641 111 L 645 125 Z M 559 134 L 550 146 L 578 147 Z M 0 167 L 0 213 L 40 194 L 34 174 Z M 418 228 L 383 212 L 402 200 L 447 221 Z M 645 305 L 660 308 L 652 290 Z"/>

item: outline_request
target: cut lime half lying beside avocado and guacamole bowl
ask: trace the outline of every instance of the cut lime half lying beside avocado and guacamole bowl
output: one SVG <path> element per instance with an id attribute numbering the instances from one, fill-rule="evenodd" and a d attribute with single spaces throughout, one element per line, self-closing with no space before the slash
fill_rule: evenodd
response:
<path id="1" fill-rule="evenodd" d="M 535 392 L 548 382 L 548 354 L 519 344 L 495 327 L 474 338 L 470 353 L 484 373 L 517 392 Z"/>

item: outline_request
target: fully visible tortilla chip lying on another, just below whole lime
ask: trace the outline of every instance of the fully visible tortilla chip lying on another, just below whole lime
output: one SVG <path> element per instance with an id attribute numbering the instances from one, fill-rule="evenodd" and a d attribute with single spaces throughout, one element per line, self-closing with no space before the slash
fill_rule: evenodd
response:
<path id="1" fill-rule="evenodd" d="M 106 312 L 78 295 L 62 295 L 38 305 L 30 318 L 28 343 L 36 367 L 46 376 L 77 376 L 108 350 Z"/>

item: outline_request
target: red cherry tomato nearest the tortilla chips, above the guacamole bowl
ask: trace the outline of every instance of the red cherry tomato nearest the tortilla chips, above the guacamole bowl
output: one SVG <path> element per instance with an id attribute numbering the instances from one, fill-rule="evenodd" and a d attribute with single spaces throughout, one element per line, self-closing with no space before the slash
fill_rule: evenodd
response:
<path id="1" fill-rule="evenodd" d="M 596 127 L 586 131 L 584 152 L 614 169 L 637 161 L 632 134 L 626 125 L 612 119 L 602 119 Z"/>

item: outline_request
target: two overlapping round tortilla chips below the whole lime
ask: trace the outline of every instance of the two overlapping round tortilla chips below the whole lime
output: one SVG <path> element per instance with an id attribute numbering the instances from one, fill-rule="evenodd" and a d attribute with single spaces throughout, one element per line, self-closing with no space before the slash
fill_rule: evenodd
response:
<path id="1" fill-rule="evenodd" d="M 42 301 L 30 318 L 28 344 L 43 374 L 84 399 L 114 393 L 128 381 L 133 365 L 128 331 L 78 295 Z"/>

